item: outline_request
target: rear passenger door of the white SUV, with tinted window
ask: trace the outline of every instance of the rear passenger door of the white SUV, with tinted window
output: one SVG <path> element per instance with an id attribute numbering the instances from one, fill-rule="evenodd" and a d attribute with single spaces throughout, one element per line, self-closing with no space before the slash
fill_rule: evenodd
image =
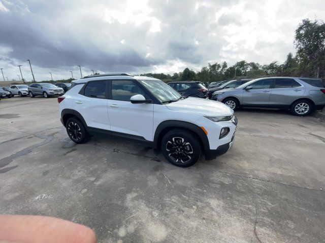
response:
<path id="1" fill-rule="evenodd" d="M 73 100 L 74 109 L 77 110 L 90 128 L 109 131 L 108 118 L 108 81 L 90 81 L 84 85 Z"/>

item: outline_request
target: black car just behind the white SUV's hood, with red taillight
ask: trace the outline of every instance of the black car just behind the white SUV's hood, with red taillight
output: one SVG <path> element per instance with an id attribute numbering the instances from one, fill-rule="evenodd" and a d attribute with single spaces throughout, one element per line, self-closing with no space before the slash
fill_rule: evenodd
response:
<path id="1" fill-rule="evenodd" d="M 183 96 L 207 98 L 208 89 L 199 81 L 170 82 L 168 85 Z"/>

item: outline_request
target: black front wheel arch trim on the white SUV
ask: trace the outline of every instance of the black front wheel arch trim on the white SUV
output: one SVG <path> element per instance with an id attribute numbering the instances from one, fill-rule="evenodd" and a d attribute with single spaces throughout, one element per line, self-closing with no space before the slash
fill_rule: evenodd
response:
<path id="1" fill-rule="evenodd" d="M 192 123 L 188 123 L 187 121 L 180 121 L 180 120 L 165 120 L 165 121 L 162 121 L 156 128 L 156 131 L 154 133 L 154 147 L 157 148 L 159 146 L 159 141 L 161 139 L 161 132 L 164 130 L 164 129 L 167 129 L 167 128 L 185 128 L 185 129 L 188 129 L 190 131 L 192 131 L 193 133 L 195 133 L 196 135 L 199 136 L 199 138 L 201 139 L 202 143 L 203 143 L 203 146 L 204 146 L 204 149 L 207 150 L 207 149 L 210 149 L 210 145 L 209 145 L 209 140 L 208 140 L 208 137 L 207 135 L 203 132 L 203 130 L 195 125 L 195 124 L 192 124 Z"/>

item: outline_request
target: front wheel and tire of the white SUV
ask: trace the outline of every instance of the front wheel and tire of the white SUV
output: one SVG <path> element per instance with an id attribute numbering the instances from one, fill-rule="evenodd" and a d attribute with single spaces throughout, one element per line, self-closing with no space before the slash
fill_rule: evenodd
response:
<path id="1" fill-rule="evenodd" d="M 175 129 L 166 133 L 161 140 L 161 151 L 169 163 L 179 167 L 189 167 L 199 160 L 201 145 L 192 133 Z"/>

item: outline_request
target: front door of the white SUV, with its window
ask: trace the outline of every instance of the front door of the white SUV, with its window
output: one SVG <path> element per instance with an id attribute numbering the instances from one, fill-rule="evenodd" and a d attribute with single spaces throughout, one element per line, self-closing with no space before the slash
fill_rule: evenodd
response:
<path id="1" fill-rule="evenodd" d="M 149 99 L 136 80 L 110 81 L 108 114 L 111 131 L 153 141 L 153 103 L 132 104 L 131 97 L 138 94 Z"/>

